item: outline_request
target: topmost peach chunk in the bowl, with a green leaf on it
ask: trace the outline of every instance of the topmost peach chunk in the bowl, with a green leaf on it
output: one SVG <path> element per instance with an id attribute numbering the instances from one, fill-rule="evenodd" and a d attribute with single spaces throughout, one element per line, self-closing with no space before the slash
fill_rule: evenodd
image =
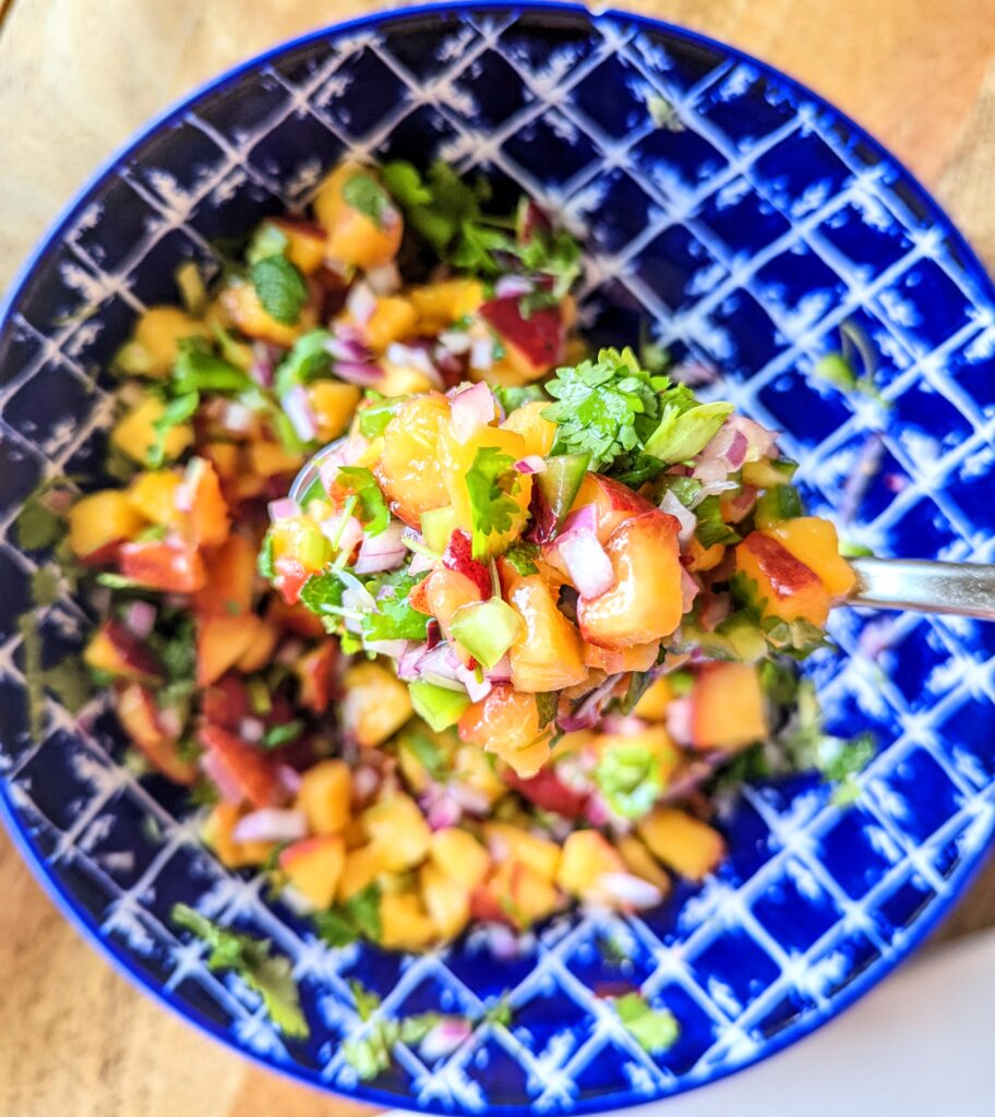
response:
<path id="1" fill-rule="evenodd" d="M 404 222 L 393 204 L 384 209 L 379 220 L 348 204 L 344 195 L 346 183 L 360 174 L 375 176 L 375 172 L 356 163 L 335 168 L 318 187 L 314 211 L 328 233 L 325 256 L 331 264 L 377 268 L 396 255 Z"/>

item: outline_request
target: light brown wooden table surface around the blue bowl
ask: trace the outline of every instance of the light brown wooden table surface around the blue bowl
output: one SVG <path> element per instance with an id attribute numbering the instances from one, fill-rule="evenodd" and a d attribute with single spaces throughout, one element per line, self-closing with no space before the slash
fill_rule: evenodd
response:
<path id="1" fill-rule="evenodd" d="M 369 0 L 0 0 L 0 288 L 77 185 L 149 116 Z M 995 0 L 644 0 L 782 67 L 883 141 L 995 267 Z M 0 1115 L 351 1117 L 137 993 L 0 834 Z M 995 924 L 995 865 L 939 937 Z"/>

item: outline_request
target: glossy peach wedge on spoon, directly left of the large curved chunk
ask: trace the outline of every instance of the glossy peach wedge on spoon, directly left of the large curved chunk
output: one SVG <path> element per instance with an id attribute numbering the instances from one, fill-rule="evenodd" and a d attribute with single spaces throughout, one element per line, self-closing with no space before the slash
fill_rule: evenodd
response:
<path id="1" fill-rule="evenodd" d="M 587 678 L 576 628 L 556 608 L 549 586 L 538 574 L 514 583 L 508 604 L 523 621 L 511 645 L 511 685 L 516 690 L 562 690 Z"/>

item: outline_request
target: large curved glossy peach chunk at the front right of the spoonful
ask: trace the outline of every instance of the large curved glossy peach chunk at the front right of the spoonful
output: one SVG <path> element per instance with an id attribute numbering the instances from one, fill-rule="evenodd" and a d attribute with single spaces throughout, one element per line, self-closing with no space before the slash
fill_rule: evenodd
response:
<path id="1" fill-rule="evenodd" d="M 615 584 L 577 604 L 581 634 L 602 648 L 669 636 L 683 614 L 677 521 L 657 509 L 621 523 L 605 545 Z"/>

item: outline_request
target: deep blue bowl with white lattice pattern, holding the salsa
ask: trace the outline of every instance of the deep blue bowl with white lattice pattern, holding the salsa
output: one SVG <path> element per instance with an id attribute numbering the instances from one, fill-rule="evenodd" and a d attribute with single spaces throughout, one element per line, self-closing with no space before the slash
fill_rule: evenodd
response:
<path id="1" fill-rule="evenodd" d="M 374 16 L 280 47 L 146 127 L 49 232 L 0 334 L 0 804 L 67 916 L 155 997 L 229 1046 L 364 1100 L 432 1113 L 590 1113 L 677 1094 L 811 1032 L 949 909 L 995 825 L 995 626 L 841 611 L 813 668 L 831 725 L 881 752 L 846 810 L 817 779 L 748 789 L 724 815 L 728 861 L 647 918 L 584 915 L 515 961 L 471 935 L 422 957 L 325 948 L 260 879 L 226 871 L 157 779 L 136 780 L 97 699 L 82 731 L 49 694 L 32 739 L 18 618 L 50 555 L 18 550 L 25 497 L 57 474 L 99 483 L 102 371 L 184 259 L 299 206 L 346 152 L 432 156 L 526 191 L 583 235 L 584 313 L 623 343 L 649 321 L 718 364 L 724 394 L 784 430 L 806 495 L 881 554 L 993 561 L 995 292 L 936 203 L 852 122 L 738 51 L 622 13 L 457 4 Z M 813 379 L 857 324 L 890 408 Z M 883 432 L 883 436 L 880 432 Z M 880 468 L 841 504 L 869 440 Z M 870 443 L 873 446 L 873 441 Z M 68 586 L 36 614 L 45 662 L 87 627 Z M 265 935 L 293 960 L 312 1024 L 285 1042 L 238 978 L 181 945 L 174 903 Z M 621 944 L 620 971 L 599 949 Z M 403 1046 L 373 1083 L 347 982 L 384 1010 L 479 1013 L 427 1062 Z M 647 1054 L 596 991 L 641 985 L 681 1025 Z"/>

